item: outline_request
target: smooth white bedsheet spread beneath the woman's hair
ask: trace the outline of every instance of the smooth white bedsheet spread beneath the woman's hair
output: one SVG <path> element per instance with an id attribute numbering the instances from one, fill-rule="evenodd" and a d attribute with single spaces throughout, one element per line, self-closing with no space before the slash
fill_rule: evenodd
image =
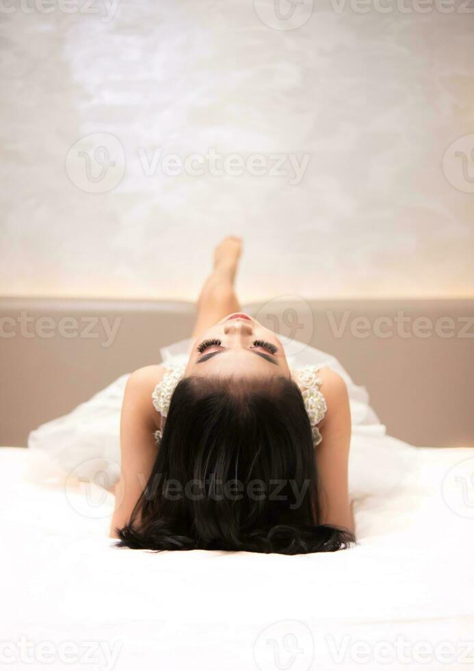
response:
<path id="1" fill-rule="evenodd" d="M 115 548 L 113 496 L 41 459 L 0 449 L 8 668 L 474 668 L 474 449 L 359 433 L 358 546 L 297 557 Z"/>

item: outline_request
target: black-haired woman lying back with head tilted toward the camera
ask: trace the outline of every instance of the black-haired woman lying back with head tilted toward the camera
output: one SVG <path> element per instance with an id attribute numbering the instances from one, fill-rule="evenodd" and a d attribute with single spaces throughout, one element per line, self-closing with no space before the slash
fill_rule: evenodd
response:
<path id="1" fill-rule="evenodd" d="M 187 364 L 127 382 L 120 545 L 293 555 L 354 540 L 345 383 L 327 367 L 290 370 L 276 333 L 239 312 L 240 253 L 238 238 L 215 250 Z"/>

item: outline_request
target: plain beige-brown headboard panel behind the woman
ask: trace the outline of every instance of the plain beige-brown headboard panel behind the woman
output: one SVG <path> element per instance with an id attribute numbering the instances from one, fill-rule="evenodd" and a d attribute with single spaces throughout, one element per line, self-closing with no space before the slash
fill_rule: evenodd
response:
<path id="1" fill-rule="evenodd" d="M 25 445 L 40 423 L 122 373 L 159 362 L 159 348 L 186 338 L 194 320 L 193 305 L 166 301 L 0 305 L 1 445 Z M 397 438 L 474 445 L 474 300 L 272 301 L 246 309 L 340 359 Z"/>

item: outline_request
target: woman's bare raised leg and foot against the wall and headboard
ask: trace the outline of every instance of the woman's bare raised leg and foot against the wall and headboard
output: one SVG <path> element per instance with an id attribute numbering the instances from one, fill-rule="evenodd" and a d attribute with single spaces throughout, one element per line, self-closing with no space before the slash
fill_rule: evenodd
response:
<path id="1" fill-rule="evenodd" d="M 235 295 L 234 281 L 242 249 L 240 238 L 225 238 L 214 252 L 213 272 L 204 283 L 198 298 L 198 316 L 193 338 L 217 324 L 226 314 L 241 309 Z"/>

